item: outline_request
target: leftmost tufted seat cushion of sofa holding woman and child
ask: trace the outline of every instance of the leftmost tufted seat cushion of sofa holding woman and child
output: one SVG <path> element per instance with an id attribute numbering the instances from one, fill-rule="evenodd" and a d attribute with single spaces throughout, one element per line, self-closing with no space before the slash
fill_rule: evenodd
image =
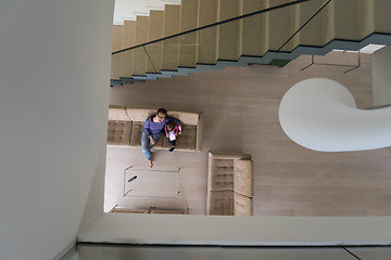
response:
<path id="1" fill-rule="evenodd" d="M 131 121 L 111 120 L 108 126 L 108 144 L 129 145 Z"/>

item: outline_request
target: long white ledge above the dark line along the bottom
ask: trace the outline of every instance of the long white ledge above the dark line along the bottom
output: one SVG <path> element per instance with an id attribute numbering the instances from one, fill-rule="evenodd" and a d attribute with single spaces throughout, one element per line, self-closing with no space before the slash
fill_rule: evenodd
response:
<path id="1" fill-rule="evenodd" d="M 391 217 L 105 213 L 80 242 L 162 245 L 390 245 Z"/>

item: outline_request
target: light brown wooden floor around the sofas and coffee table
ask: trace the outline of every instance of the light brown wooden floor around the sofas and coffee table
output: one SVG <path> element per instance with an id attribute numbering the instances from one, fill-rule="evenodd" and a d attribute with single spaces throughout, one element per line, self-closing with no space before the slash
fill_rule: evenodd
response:
<path id="1" fill-rule="evenodd" d="M 278 122 L 287 90 L 303 79 L 325 77 L 344 84 L 357 107 L 371 106 L 370 55 L 362 66 L 312 65 L 303 55 L 286 67 L 253 65 L 209 70 L 187 77 L 114 87 L 110 103 L 162 106 L 204 113 L 202 152 L 157 151 L 154 167 L 178 167 L 179 197 L 122 197 L 123 170 L 146 167 L 141 151 L 108 147 L 105 210 L 182 209 L 205 213 L 207 152 L 252 154 L 255 176 L 254 216 L 390 216 L 391 148 L 354 153 L 320 153 L 293 143 Z M 357 53 L 330 53 L 317 63 L 357 64 Z"/>

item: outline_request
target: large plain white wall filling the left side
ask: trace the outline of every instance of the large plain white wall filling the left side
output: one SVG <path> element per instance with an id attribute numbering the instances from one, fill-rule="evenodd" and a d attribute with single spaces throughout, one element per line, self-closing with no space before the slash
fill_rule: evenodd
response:
<path id="1" fill-rule="evenodd" d="M 102 212 L 113 6 L 0 3 L 0 259 L 53 259 Z"/>

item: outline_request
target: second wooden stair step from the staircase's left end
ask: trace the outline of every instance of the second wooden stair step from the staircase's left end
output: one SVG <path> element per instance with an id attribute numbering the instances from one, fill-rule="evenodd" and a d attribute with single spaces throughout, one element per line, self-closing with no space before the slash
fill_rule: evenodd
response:
<path id="1" fill-rule="evenodd" d="M 122 49 L 135 46 L 136 22 L 125 21 L 123 29 Z M 134 73 L 135 51 L 125 51 L 121 55 L 121 77 L 130 78 Z"/>

